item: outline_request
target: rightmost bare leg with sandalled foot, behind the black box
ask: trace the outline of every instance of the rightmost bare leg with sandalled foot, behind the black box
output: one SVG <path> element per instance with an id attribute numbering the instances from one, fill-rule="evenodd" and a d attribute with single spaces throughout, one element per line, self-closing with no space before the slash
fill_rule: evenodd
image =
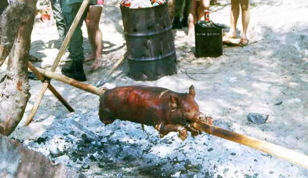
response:
<path id="1" fill-rule="evenodd" d="M 243 31 L 241 37 L 241 43 L 243 45 L 247 45 L 247 28 L 250 20 L 250 8 L 249 8 L 249 1 L 248 0 L 240 0 L 241 10 L 242 10 L 242 24 L 243 24 Z"/>

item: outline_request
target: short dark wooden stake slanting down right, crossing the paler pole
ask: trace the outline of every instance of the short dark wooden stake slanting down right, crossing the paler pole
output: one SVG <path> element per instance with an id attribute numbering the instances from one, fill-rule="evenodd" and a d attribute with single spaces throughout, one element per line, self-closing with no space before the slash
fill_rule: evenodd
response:
<path id="1" fill-rule="evenodd" d="M 28 63 L 28 67 L 30 68 L 30 70 L 33 72 L 33 74 L 36 75 L 36 77 L 41 80 L 42 82 L 45 81 L 45 77 L 42 76 L 42 74 L 40 72 L 38 72 L 38 70 L 33 66 L 33 64 L 31 62 Z M 59 99 L 59 101 L 61 101 L 61 103 L 65 106 L 65 108 L 71 113 L 74 112 L 74 109 L 69 105 L 69 103 L 61 96 L 61 94 L 59 92 L 57 92 L 55 90 L 55 88 L 51 85 L 51 83 L 49 83 L 48 87 L 47 87 L 50 92 L 57 98 Z"/>

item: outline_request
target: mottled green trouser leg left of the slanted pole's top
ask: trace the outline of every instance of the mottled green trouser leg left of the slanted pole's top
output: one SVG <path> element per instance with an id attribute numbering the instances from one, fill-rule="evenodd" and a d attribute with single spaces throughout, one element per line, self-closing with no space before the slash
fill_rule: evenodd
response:
<path id="1" fill-rule="evenodd" d="M 51 0 L 51 7 L 53 12 L 53 17 L 55 19 L 55 25 L 59 33 L 59 37 L 64 40 L 65 38 L 65 24 L 64 16 L 61 8 L 61 0 Z"/>

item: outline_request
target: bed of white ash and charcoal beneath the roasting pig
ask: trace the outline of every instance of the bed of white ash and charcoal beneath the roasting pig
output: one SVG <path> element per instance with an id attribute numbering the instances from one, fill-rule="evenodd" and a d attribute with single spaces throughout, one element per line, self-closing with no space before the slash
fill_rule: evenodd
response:
<path id="1" fill-rule="evenodd" d="M 286 177 L 287 169 L 298 169 L 205 133 L 182 141 L 175 132 L 159 138 L 155 128 L 144 130 L 119 120 L 104 126 L 94 111 L 56 118 L 40 138 L 24 144 L 87 177 L 265 177 L 269 171 Z M 266 169 L 273 165 L 280 166 Z"/>

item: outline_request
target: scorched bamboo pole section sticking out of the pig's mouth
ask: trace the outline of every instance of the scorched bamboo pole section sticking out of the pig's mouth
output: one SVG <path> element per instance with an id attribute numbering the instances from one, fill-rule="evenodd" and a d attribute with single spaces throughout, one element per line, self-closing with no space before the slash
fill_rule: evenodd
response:
<path id="1" fill-rule="evenodd" d="M 283 148 L 281 146 L 271 144 L 266 141 L 262 141 L 253 137 L 224 130 L 222 128 L 207 123 L 195 122 L 192 124 L 192 127 L 196 130 L 206 132 L 211 135 L 215 135 L 220 138 L 234 141 L 235 143 L 255 148 L 262 152 L 280 157 L 285 161 L 291 162 L 295 165 L 308 169 L 308 156 L 298 153 L 296 151 Z"/>

